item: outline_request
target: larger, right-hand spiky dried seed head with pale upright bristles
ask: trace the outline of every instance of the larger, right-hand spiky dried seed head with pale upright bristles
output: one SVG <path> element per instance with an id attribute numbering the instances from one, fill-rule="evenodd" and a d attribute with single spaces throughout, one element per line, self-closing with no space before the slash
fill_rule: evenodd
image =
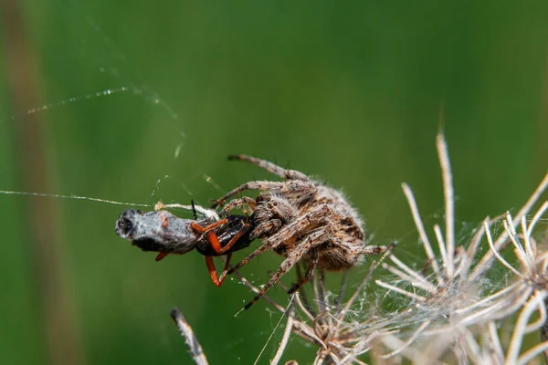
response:
<path id="1" fill-rule="evenodd" d="M 404 193 L 431 270 L 428 276 L 417 272 L 395 255 L 390 257 L 394 265 L 384 266 L 395 276 L 397 284 L 377 280 L 377 285 L 399 297 L 405 297 L 405 306 L 409 309 L 400 331 L 381 338 L 389 350 L 382 358 L 398 356 L 425 364 L 442 360 L 456 363 L 516 363 L 530 359 L 534 351 L 545 348 L 541 345 L 532 349 L 533 352 L 522 353 L 520 357 L 523 336 L 531 328 L 538 330 L 545 317 L 543 298 L 546 296 L 546 255 L 538 251 L 532 231 L 546 211 L 547 203 L 534 214 L 529 225 L 526 224 L 526 216 L 545 190 L 548 175 L 514 218 L 510 214 L 495 219 L 488 217 L 479 225 L 469 242 L 455 245 L 452 178 L 447 145 L 441 135 L 437 137 L 437 151 L 444 182 L 446 232 L 444 235 L 439 225 L 434 226 L 438 258 L 434 255 L 413 193 L 404 184 Z M 518 235 L 515 224 L 520 222 L 522 233 Z M 493 240 L 492 227 L 501 223 L 504 230 Z M 479 247 L 485 245 L 486 241 L 490 249 L 478 257 Z M 515 258 L 522 263 L 521 272 L 499 253 L 502 247 L 510 243 L 515 247 Z M 506 269 L 502 273 L 501 267 L 494 265 L 494 258 Z M 495 275 L 499 277 L 494 279 L 492 276 Z M 541 312 L 540 324 L 527 326 L 532 310 Z M 520 311 L 519 318 L 522 321 L 516 323 L 511 342 L 501 343 L 497 328 L 503 320 L 513 318 Z M 506 354 L 503 349 L 507 349 Z"/>

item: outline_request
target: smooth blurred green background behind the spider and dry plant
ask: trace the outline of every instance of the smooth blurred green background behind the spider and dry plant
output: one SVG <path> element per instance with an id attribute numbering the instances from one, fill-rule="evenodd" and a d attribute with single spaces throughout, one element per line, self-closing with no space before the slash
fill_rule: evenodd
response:
<path id="1" fill-rule="evenodd" d="M 458 230 L 521 206 L 546 172 L 545 1 L 14 0 L 0 11 L 2 190 L 206 204 L 269 177 L 226 161 L 248 153 L 342 187 L 374 242 L 400 240 L 412 261 L 422 252 L 400 183 L 431 226 L 443 211 L 440 114 Z M 8 24 L 14 11 L 21 35 Z M 26 47 L 34 74 L 13 44 Z M 22 114 L 17 88 L 37 94 L 24 109 L 51 105 Z M 25 173 L 37 166 L 21 151 L 35 143 L 16 137 L 26 122 L 44 142 L 47 181 L 34 185 Z M 47 256 L 32 243 L 38 201 L 55 213 L 45 217 L 55 222 Z M 63 326 L 65 363 L 191 363 L 168 317 L 178 306 L 210 363 L 248 364 L 279 320 L 265 303 L 235 318 L 251 293 L 236 281 L 214 287 L 200 255 L 155 263 L 122 241 L 113 226 L 126 206 L 0 194 L 0 207 L 2 363 L 59 362 L 51 353 Z M 49 281 L 63 294 L 43 287 L 49 255 L 58 260 Z M 278 263 L 262 255 L 242 273 L 261 284 Z M 287 300 L 280 289 L 273 296 Z M 45 318 L 44 302 L 66 309 L 65 325 Z M 293 339 L 284 360 L 308 363 L 313 352 Z"/>

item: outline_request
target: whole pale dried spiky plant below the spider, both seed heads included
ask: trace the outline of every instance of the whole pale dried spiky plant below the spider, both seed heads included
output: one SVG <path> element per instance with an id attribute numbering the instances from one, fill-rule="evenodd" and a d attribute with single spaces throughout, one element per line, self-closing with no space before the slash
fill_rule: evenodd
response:
<path id="1" fill-rule="evenodd" d="M 367 358 L 383 364 L 525 364 L 548 353 L 548 253 L 535 232 L 548 202 L 530 214 L 548 185 L 548 174 L 515 216 L 487 217 L 463 239 L 455 235 L 452 174 L 441 134 L 437 152 L 445 224 L 433 227 L 436 245 L 428 238 L 411 189 L 403 184 L 427 265 L 406 264 L 391 246 L 346 301 L 346 280 L 332 294 L 320 270 L 313 277 L 311 298 L 302 289 L 290 295 L 286 306 L 263 297 L 287 318 L 271 364 L 282 359 L 291 333 L 317 346 L 314 364 L 364 364 Z M 373 282 L 377 268 L 383 278 Z M 260 291 L 236 275 L 252 291 Z M 374 295 L 364 290 L 368 286 L 376 290 Z M 391 305 L 377 309 L 385 300 Z M 538 318 L 532 319 L 535 313 Z M 540 332 L 542 341 L 525 346 L 524 338 L 532 332 Z"/>

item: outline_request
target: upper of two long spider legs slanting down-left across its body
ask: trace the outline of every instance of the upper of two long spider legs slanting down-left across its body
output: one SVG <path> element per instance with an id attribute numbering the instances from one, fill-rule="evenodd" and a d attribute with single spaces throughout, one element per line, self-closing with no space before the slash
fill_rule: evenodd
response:
<path id="1" fill-rule="evenodd" d="M 262 254 L 263 252 L 275 248 L 278 245 L 281 245 L 283 242 L 289 240 L 290 238 L 300 235 L 302 232 L 310 229 L 311 226 L 317 226 L 321 223 L 321 218 L 323 218 L 329 211 L 329 207 L 321 205 L 318 208 L 315 208 L 311 212 L 304 214 L 299 219 L 294 222 L 286 225 L 276 235 L 272 235 L 267 239 L 263 239 L 263 244 L 258 247 L 255 251 L 249 254 L 242 261 L 237 263 L 236 266 L 228 270 L 228 274 L 232 274 L 237 271 L 241 266 L 247 265 L 249 261 Z M 252 233 L 254 235 L 254 233 Z"/>

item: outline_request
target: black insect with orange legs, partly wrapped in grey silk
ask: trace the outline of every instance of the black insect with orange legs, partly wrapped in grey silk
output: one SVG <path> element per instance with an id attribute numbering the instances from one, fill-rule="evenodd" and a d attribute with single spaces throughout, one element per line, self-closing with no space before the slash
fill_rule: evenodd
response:
<path id="1" fill-rule="evenodd" d="M 142 251 L 158 252 L 156 261 L 170 254 L 184 255 L 196 249 L 205 257 L 211 280 L 220 287 L 227 276 L 232 253 L 251 244 L 250 226 L 251 221 L 245 215 L 232 214 L 219 219 L 212 211 L 209 217 L 198 219 L 195 212 L 192 220 L 179 218 L 165 210 L 143 213 L 128 209 L 116 221 L 115 231 Z M 217 255 L 227 255 L 220 277 L 213 261 L 213 256 Z"/>

